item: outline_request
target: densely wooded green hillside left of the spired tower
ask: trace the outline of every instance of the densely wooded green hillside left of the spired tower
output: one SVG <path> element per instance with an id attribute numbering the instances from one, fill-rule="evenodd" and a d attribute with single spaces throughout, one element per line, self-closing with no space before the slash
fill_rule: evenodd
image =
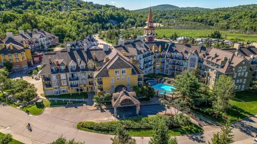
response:
<path id="1" fill-rule="evenodd" d="M 0 10 L 0 36 L 7 31 L 42 28 L 67 41 L 99 30 L 143 26 L 145 22 L 141 14 L 81 0 L 0 1 Z"/>

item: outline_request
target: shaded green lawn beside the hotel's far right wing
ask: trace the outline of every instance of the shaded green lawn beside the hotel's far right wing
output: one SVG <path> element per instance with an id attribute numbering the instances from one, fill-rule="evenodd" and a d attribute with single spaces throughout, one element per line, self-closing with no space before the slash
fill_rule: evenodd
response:
<path id="1" fill-rule="evenodd" d="M 230 100 L 230 104 L 232 106 L 231 109 L 228 110 L 226 114 L 224 113 L 223 116 L 227 115 L 231 122 L 257 114 L 257 93 L 249 91 L 236 92 L 235 97 Z M 223 122 L 221 117 L 216 119 L 214 116 L 206 115 L 200 112 L 195 113 L 216 122 Z"/>

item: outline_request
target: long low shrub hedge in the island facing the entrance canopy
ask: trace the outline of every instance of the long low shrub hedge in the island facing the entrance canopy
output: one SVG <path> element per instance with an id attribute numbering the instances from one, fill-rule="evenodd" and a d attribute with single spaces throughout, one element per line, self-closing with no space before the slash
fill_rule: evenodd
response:
<path id="1" fill-rule="evenodd" d="M 180 121 L 180 119 L 182 120 Z M 130 118 L 118 121 L 109 122 L 92 122 L 83 121 L 80 123 L 82 128 L 94 130 L 94 131 L 115 131 L 118 126 L 123 126 L 126 129 L 153 129 L 157 121 L 160 119 L 166 122 L 169 129 L 179 128 L 181 126 L 188 126 L 191 124 L 188 116 L 177 115 L 175 118 L 168 116 L 153 116 L 153 117 L 142 117 L 142 118 Z"/>

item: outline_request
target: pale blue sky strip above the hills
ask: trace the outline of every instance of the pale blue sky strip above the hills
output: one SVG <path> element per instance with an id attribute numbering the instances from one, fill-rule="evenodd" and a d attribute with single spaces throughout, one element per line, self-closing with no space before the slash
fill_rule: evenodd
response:
<path id="1" fill-rule="evenodd" d="M 88 1 L 88 0 L 83 0 Z M 222 8 L 238 5 L 257 4 L 256 0 L 89 0 L 96 4 L 109 4 L 125 9 L 135 10 L 156 5 L 170 4 L 178 7 L 202 7 L 202 8 Z"/>

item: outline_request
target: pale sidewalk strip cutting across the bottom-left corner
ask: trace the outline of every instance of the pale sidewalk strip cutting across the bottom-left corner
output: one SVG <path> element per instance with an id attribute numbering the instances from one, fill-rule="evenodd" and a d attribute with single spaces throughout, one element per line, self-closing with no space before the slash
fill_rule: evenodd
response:
<path id="1" fill-rule="evenodd" d="M 32 140 L 32 139 L 29 139 L 27 137 L 24 137 L 20 134 L 14 133 L 14 132 L 12 132 L 8 129 L 5 129 L 1 126 L 0 126 L 0 132 L 4 133 L 4 134 L 11 134 L 13 139 L 21 141 L 21 142 L 26 143 L 26 144 L 39 144 L 39 143 L 41 143 L 41 142 L 38 142 L 38 141 L 35 141 L 35 140 Z"/>

